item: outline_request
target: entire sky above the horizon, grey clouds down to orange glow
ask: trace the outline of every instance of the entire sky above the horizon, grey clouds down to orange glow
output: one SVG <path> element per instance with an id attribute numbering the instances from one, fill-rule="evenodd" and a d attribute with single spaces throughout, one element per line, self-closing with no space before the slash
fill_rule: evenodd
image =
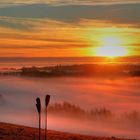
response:
<path id="1" fill-rule="evenodd" d="M 140 0 L 1 0 L 0 56 L 97 56 L 114 47 L 139 56 L 139 7 Z"/>

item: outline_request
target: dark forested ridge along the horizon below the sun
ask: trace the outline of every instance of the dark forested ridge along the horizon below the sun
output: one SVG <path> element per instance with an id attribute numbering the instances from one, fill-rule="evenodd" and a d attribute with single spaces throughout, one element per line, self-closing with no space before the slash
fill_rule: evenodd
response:
<path id="1" fill-rule="evenodd" d="M 140 76 L 140 64 L 81 64 L 57 65 L 48 67 L 22 67 L 12 71 L 0 72 L 1 75 L 20 75 L 32 77 L 125 77 Z"/>

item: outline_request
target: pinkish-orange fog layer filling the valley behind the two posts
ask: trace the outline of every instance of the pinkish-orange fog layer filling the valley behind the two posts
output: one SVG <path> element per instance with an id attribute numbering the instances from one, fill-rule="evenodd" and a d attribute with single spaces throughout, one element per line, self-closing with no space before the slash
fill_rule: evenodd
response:
<path id="1" fill-rule="evenodd" d="M 51 95 L 51 105 L 69 102 L 85 111 L 106 108 L 114 118 L 140 112 L 140 78 L 24 78 L 0 77 L 0 121 L 37 127 L 36 97 Z M 67 113 L 67 112 L 66 112 Z M 76 115 L 75 115 L 76 116 Z M 92 135 L 140 138 L 139 122 L 109 118 L 91 120 L 49 113 L 49 129 Z M 122 122 L 121 122 L 122 121 Z M 136 120 L 137 121 L 137 120 Z M 43 120 L 42 120 L 43 124 Z"/>

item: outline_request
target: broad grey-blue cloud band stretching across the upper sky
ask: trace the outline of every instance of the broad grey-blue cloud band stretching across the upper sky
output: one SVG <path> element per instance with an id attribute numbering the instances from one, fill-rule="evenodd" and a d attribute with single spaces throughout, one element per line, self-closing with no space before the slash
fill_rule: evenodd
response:
<path id="1" fill-rule="evenodd" d="M 114 23 L 139 26 L 139 5 L 61 5 L 47 4 L 18 5 L 0 8 L 0 16 L 14 18 L 51 19 L 78 23 L 80 19 L 108 20 Z"/>

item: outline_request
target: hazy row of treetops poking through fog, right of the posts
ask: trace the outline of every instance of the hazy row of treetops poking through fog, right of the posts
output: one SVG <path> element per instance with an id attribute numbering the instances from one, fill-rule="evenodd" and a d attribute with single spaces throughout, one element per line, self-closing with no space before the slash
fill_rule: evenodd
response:
<path id="1" fill-rule="evenodd" d="M 117 114 L 105 107 L 85 110 L 78 105 L 74 105 L 69 102 L 63 102 L 49 105 L 48 112 L 50 115 L 88 121 L 116 123 L 129 122 L 130 124 L 140 127 L 140 112 L 136 110 L 128 110 L 127 112 Z"/>

